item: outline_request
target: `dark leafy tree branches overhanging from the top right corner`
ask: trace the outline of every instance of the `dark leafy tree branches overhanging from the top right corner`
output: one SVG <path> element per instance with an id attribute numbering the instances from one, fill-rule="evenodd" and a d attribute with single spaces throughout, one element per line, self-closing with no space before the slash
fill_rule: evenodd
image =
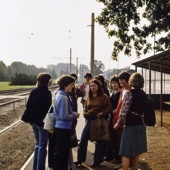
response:
<path id="1" fill-rule="evenodd" d="M 112 58 L 117 60 L 121 51 L 138 57 L 154 49 L 155 52 L 170 49 L 170 1 L 169 0 L 97 0 L 104 4 L 96 21 L 109 37 L 114 37 Z M 141 12 L 143 14 L 141 14 Z M 155 46 L 148 37 L 161 35 Z"/>

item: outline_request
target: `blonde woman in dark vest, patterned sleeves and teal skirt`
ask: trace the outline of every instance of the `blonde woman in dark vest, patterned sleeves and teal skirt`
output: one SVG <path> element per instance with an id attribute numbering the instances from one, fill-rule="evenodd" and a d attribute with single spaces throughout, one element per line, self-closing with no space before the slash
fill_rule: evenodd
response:
<path id="1" fill-rule="evenodd" d="M 142 90 L 144 78 L 133 73 L 129 79 L 131 90 L 125 93 L 117 123 L 114 128 L 124 125 L 119 154 L 122 156 L 122 170 L 138 170 L 139 155 L 147 152 L 146 93 Z"/>

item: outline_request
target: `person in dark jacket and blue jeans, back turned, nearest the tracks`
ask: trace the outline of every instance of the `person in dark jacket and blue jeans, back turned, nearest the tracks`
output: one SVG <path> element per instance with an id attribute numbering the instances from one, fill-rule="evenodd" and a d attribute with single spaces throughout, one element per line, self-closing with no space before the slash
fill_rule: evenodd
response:
<path id="1" fill-rule="evenodd" d="M 35 135 L 35 148 L 33 170 L 45 170 L 47 155 L 48 131 L 43 129 L 44 118 L 52 101 L 51 92 L 48 90 L 51 76 L 48 73 L 40 73 L 37 76 L 37 87 L 29 95 L 26 109 L 30 114 L 30 124 Z"/>

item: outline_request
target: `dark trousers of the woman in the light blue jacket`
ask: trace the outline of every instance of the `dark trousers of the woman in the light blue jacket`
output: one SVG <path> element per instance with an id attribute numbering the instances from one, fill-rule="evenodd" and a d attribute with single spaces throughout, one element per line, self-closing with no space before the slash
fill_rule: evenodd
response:
<path id="1" fill-rule="evenodd" d="M 53 170 L 68 170 L 70 129 L 55 128 L 54 138 L 55 138 L 55 151 Z"/>

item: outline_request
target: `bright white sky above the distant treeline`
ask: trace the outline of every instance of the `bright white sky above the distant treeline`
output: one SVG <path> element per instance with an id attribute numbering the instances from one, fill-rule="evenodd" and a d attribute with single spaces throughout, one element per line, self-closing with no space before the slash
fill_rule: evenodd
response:
<path id="1" fill-rule="evenodd" d="M 46 67 L 68 62 L 90 63 L 91 14 L 98 16 L 96 0 L 0 0 L 0 60 Z M 129 66 L 136 57 L 121 55 L 111 60 L 113 40 L 95 24 L 95 59 L 106 69 Z"/>

